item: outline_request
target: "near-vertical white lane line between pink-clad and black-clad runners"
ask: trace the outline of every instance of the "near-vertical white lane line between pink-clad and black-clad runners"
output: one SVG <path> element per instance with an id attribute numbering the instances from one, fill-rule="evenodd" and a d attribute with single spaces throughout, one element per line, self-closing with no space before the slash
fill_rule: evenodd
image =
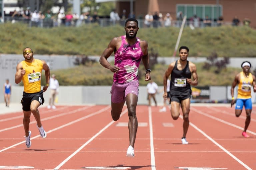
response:
<path id="1" fill-rule="evenodd" d="M 149 119 L 149 134 L 150 134 L 151 170 L 156 170 L 151 106 L 148 107 L 148 119 Z"/>

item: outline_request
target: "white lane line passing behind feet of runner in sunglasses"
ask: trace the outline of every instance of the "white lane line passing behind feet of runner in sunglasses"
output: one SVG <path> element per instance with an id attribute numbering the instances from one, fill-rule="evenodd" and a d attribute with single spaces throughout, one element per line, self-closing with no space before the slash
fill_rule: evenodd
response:
<path id="1" fill-rule="evenodd" d="M 89 117 L 94 116 L 94 115 L 96 115 L 96 114 L 99 114 L 99 113 L 101 113 L 101 112 L 107 110 L 109 107 L 110 107 L 110 106 L 107 106 L 107 107 L 105 107 L 105 108 L 103 108 L 103 109 L 101 109 L 101 110 L 98 110 L 98 111 L 94 112 L 94 113 L 88 114 L 87 116 L 81 117 L 81 118 L 79 118 L 79 119 L 76 119 L 76 120 L 73 120 L 73 121 L 71 121 L 71 122 L 69 122 L 69 123 L 66 123 L 66 124 L 64 124 L 64 125 L 62 125 L 62 126 L 59 126 L 59 127 L 57 127 L 57 128 L 54 128 L 54 129 L 52 129 L 52 130 L 49 130 L 49 131 L 47 131 L 47 133 L 51 133 L 51 132 L 56 131 L 56 130 L 58 130 L 58 129 L 61 129 L 61 128 L 63 128 L 63 127 L 66 127 L 66 126 L 69 126 L 69 125 L 74 124 L 74 123 L 76 123 L 76 122 L 79 122 L 79 121 L 81 121 L 81 120 L 83 120 L 83 119 L 86 119 L 86 118 L 89 118 Z M 72 112 L 73 112 L 73 111 L 72 111 Z M 37 137 L 39 137 L 39 136 L 40 136 L 40 135 L 34 136 L 34 137 L 30 138 L 30 140 L 35 139 L 35 138 L 37 138 Z M 7 147 L 7 148 L 4 148 L 4 149 L 0 150 L 0 152 L 3 152 L 3 151 L 5 151 L 5 150 L 7 150 L 7 149 L 10 149 L 10 148 L 12 148 L 12 147 L 15 147 L 15 146 L 17 146 L 17 145 L 24 144 L 24 143 L 25 143 L 25 140 L 22 141 L 22 142 L 16 143 L 16 144 L 14 144 L 14 145 L 12 145 L 12 146 L 9 146 L 9 147 Z"/>

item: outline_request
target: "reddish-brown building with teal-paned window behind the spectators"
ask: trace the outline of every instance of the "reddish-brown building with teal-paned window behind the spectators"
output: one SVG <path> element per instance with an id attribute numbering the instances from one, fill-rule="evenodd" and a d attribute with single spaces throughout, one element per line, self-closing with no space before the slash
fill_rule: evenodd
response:
<path id="1" fill-rule="evenodd" d="M 165 16 L 167 13 L 176 20 L 177 14 L 182 11 L 183 15 L 191 18 L 197 15 L 200 19 L 205 19 L 206 15 L 211 20 L 217 20 L 222 16 L 224 22 L 232 22 L 237 16 L 240 20 L 239 25 L 243 25 L 245 19 L 250 20 L 250 26 L 256 28 L 256 1 L 255 0 L 134 0 L 133 11 L 137 19 L 144 19 L 148 12 L 152 14 L 156 11 L 149 11 L 150 3 L 156 1 L 159 9 L 157 12 Z M 117 1 L 117 11 L 125 9 L 130 13 L 130 1 Z"/>

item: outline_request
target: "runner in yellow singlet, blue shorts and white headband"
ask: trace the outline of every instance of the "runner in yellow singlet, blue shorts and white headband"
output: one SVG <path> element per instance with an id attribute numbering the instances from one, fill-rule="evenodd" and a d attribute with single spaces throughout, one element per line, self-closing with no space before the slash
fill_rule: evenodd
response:
<path id="1" fill-rule="evenodd" d="M 251 121 L 251 111 L 252 111 L 252 96 L 251 96 L 251 88 L 253 87 L 253 91 L 256 92 L 256 83 L 255 83 L 255 76 L 250 73 L 251 63 L 248 61 L 245 61 L 241 65 L 243 71 L 236 75 L 232 86 L 231 86 L 231 107 L 235 103 L 234 98 L 234 88 L 236 85 L 237 87 L 237 100 L 236 100 L 236 107 L 235 107 L 235 113 L 236 117 L 239 117 L 242 113 L 243 106 L 245 108 L 246 112 L 246 120 L 245 120 L 245 126 L 244 131 L 242 135 L 244 137 L 249 137 L 249 135 L 246 133 L 246 130 L 250 124 Z"/>

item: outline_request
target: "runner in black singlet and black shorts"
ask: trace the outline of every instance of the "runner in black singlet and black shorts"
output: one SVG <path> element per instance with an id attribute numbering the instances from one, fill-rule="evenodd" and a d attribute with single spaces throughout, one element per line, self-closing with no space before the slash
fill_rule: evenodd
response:
<path id="1" fill-rule="evenodd" d="M 188 144 L 186 134 L 189 126 L 189 109 L 191 87 L 190 85 L 197 85 L 198 76 L 196 73 L 195 64 L 187 61 L 189 49 L 182 46 L 179 49 L 180 59 L 171 63 L 164 75 L 164 94 L 167 98 L 167 79 L 171 75 L 170 85 L 170 99 L 171 99 L 171 115 L 174 120 L 177 120 L 180 115 L 180 106 L 183 113 L 183 136 L 181 138 L 182 144 Z M 193 77 L 193 80 L 191 79 Z"/>

